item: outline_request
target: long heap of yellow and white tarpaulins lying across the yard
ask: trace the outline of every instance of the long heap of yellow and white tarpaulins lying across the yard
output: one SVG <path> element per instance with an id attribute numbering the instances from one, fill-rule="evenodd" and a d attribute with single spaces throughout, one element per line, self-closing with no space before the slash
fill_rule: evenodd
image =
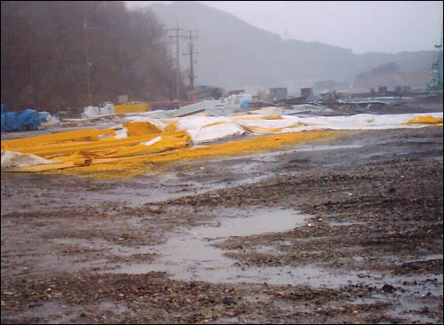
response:
<path id="1" fill-rule="evenodd" d="M 334 131 L 442 126 L 442 113 L 297 117 L 260 114 L 264 112 L 267 111 L 171 119 L 136 115 L 127 117 L 126 122 L 115 128 L 4 140 L 2 170 L 128 170 L 136 164 L 147 166 L 154 162 L 270 150 L 291 142 L 330 137 L 335 135 Z M 244 134 L 261 137 L 202 146 Z M 24 155 L 29 155 L 28 160 Z"/>

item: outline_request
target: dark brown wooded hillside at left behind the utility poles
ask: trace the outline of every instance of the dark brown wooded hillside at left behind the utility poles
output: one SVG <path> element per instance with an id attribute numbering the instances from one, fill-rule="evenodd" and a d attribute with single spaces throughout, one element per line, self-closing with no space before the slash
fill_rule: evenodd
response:
<path id="1" fill-rule="evenodd" d="M 81 109 L 117 96 L 172 99 L 163 26 L 115 1 L 2 1 L 2 103 Z M 183 87 L 182 87 L 183 89 Z"/>

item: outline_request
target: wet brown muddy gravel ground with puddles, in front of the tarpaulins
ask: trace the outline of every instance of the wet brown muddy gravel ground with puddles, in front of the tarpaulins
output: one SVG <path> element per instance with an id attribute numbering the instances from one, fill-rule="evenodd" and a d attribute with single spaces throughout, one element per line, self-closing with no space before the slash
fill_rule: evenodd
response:
<path id="1" fill-rule="evenodd" d="M 2 172 L 2 323 L 442 323 L 442 127 L 137 178 Z"/>

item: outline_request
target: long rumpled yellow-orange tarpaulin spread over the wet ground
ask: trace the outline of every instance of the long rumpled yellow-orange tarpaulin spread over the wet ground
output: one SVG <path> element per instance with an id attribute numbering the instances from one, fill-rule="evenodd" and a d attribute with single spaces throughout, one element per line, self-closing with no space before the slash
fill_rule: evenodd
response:
<path id="1" fill-rule="evenodd" d="M 245 155 L 276 149 L 290 143 L 300 143 L 310 139 L 321 139 L 340 135 L 340 132 L 308 131 L 275 134 L 217 145 L 188 147 L 190 139 L 185 132 L 160 135 L 162 139 L 152 147 L 138 145 L 127 149 L 115 148 L 102 152 L 85 152 L 58 157 L 59 163 L 20 167 L 21 171 L 67 170 L 64 172 L 103 176 L 97 171 L 112 171 L 112 177 L 137 175 L 149 170 L 148 163 L 177 163 L 212 156 Z M 143 148 L 145 147 L 145 148 Z M 140 151 L 139 151 L 140 150 Z M 128 156 L 124 156 L 128 155 Z M 82 163 L 84 163 L 82 165 Z M 71 171 L 69 171 L 71 170 Z M 77 170 L 77 171 L 75 171 Z"/>

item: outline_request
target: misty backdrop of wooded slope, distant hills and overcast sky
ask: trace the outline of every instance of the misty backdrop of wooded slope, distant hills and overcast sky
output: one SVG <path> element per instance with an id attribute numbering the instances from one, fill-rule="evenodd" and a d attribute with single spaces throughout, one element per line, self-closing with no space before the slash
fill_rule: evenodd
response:
<path id="1" fill-rule="evenodd" d="M 3 1 L 2 103 L 171 101 L 195 86 L 424 89 L 441 12 L 442 2 Z"/>

